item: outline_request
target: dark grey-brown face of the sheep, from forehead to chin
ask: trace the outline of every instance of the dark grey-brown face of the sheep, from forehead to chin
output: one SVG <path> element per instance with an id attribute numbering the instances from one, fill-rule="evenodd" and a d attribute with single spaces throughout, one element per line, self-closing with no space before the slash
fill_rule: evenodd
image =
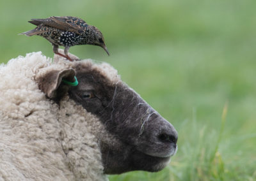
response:
<path id="1" fill-rule="evenodd" d="M 99 117 L 108 134 L 99 136 L 104 171 L 159 171 L 177 150 L 177 131 L 120 78 L 92 64 L 74 64 L 79 85 L 68 94 Z"/>

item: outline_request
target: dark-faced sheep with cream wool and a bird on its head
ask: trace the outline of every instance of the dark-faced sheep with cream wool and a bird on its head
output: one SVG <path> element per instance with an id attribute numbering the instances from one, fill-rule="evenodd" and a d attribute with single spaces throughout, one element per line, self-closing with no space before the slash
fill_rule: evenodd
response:
<path id="1" fill-rule="evenodd" d="M 108 180 L 162 170 L 177 151 L 172 124 L 108 63 L 33 52 L 0 77 L 0 180 Z"/>

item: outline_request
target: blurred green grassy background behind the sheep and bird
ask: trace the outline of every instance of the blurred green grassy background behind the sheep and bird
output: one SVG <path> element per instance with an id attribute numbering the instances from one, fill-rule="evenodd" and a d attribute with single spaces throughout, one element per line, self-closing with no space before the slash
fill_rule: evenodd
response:
<path id="1" fill-rule="evenodd" d="M 255 0 L 0 0 L 0 62 L 38 51 L 53 57 L 44 38 L 18 35 L 35 27 L 30 18 L 52 15 L 97 26 L 109 57 L 90 45 L 70 52 L 112 64 L 179 132 L 163 171 L 109 180 L 256 179 Z"/>

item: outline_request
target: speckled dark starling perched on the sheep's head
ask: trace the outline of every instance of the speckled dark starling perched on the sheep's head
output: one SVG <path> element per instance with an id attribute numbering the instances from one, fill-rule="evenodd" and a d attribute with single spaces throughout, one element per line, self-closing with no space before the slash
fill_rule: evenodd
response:
<path id="1" fill-rule="evenodd" d="M 26 36 L 38 35 L 52 43 L 54 54 L 73 61 L 68 56 L 68 49 L 75 45 L 97 45 L 102 47 L 109 55 L 102 33 L 93 25 L 88 25 L 84 20 L 77 17 L 49 17 L 32 18 L 28 21 L 36 25 L 35 29 L 26 31 Z M 65 47 L 64 54 L 58 52 L 59 46 Z"/>

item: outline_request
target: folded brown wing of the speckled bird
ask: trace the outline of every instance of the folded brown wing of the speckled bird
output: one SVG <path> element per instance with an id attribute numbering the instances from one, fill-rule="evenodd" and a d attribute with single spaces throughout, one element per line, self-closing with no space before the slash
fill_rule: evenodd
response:
<path id="1" fill-rule="evenodd" d="M 86 31 L 86 27 L 88 26 L 84 20 L 76 17 L 50 17 L 45 19 L 31 19 L 29 22 L 35 25 L 49 25 L 64 31 L 71 31 L 76 34 L 83 34 L 84 31 Z"/>

